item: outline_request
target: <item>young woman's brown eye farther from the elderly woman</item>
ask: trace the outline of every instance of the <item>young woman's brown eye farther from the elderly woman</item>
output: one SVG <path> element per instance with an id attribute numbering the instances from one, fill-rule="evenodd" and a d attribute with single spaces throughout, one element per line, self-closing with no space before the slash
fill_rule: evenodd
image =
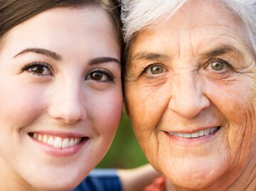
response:
<path id="1" fill-rule="evenodd" d="M 22 70 L 31 72 L 35 75 L 53 75 L 53 73 L 50 71 L 50 67 L 47 64 L 41 62 L 26 65 Z"/>

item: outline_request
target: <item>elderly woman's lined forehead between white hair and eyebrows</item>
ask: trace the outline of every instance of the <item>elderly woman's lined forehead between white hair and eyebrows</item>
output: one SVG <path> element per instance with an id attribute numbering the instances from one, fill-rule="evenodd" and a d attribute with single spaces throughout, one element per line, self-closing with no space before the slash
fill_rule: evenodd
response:
<path id="1" fill-rule="evenodd" d="M 182 40 L 192 40 L 191 43 L 196 44 L 201 41 L 208 43 L 208 40 L 219 38 L 234 38 L 240 43 L 245 42 L 240 21 L 219 2 L 210 4 L 191 1 L 183 5 L 168 20 L 163 22 L 163 19 L 159 18 L 159 21 L 151 26 L 138 31 L 132 40 L 132 46 L 136 45 L 138 48 L 140 44 L 148 43 L 154 48 L 163 36 L 164 44 L 171 42 L 172 45 L 175 45 L 176 41 L 180 43 L 182 36 Z M 158 39 L 155 39 L 156 37 Z M 164 45 L 162 47 L 164 48 Z"/>

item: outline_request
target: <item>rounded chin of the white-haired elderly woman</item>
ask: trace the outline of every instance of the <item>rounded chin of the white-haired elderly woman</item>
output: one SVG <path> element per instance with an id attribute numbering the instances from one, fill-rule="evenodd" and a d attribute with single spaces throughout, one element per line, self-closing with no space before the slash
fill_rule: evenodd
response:
<path id="1" fill-rule="evenodd" d="M 215 160 L 210 157 L 177 158 L 174 161 L 169 161 L 173 164 L 171 166 L 166 165 L 162 172 L 168 180 L 178 187 L 200 190 L 214 185 L 220 175 L 225 173 L 228 163 L 223 159 Z"/>

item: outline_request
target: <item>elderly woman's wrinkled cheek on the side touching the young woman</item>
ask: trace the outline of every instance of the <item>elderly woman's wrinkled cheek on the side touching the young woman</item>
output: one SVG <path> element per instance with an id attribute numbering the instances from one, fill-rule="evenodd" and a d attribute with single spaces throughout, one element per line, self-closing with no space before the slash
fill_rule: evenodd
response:
<path id="1" fill-rule="evenodd" d="M 169 102 L 169 88 L 139 82 L 126 82 L 124 86 L 132 128 L 146 158 L 154 165 L 159 155 L 157 126 Z"/>

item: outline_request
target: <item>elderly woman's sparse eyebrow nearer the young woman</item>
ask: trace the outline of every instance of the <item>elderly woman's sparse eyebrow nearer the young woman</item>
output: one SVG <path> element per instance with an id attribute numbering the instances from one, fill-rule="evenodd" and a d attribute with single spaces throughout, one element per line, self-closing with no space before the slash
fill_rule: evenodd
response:
<path id="1" fill-rule="evenodd" d="M 136 53 L 132 58 L 130 58 L 129 62 L 132 62 L 134 60 L 166 60 L 166 59 L 169 59 L 168 55 L 143 51 L 143 52 Z"/>

